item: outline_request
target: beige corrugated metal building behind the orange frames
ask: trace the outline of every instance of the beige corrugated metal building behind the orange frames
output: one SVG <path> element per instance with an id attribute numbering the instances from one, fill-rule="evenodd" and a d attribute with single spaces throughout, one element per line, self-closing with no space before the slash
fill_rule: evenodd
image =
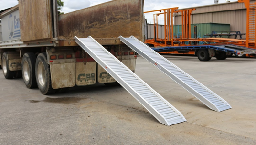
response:
<path id="1" fill-rule="evenodd" d="M 255 0 L 250 0 L 250 1 L 251 3 L 255 2 Z M 227 3 L 206 5 L 206 6 L 200 6 L 200 7 L 186 8 L 186 9 L 194 9 L 194 8 L 196 10 L 192 11 L 191 24 L 202 24 L 202 23 L 230 24 L 230 31 L 240 31 L 241 33 L 246 33 L 246 8 L 244 3 L 227 2 Z M 179 9 L 179 10 L 185 10 L 185 9 Z M 176 14 L 174 16 L 174 25 L 181 25 L 181 16 L 179 14 Z M 150 28 L 151 27 L 152 26 L 150 26 Z M 162 29 L 164 31 L 164 27 L 162 27 Z M 191 29 L 193 29 L 193 27 Z M 212 30 L 212 31 L 218 31 L 218 30 Z M 148 33 L 149 32 L 150 31 L 148 31 Z M 151 32 L 148 34 L 148 37 L 153 37 Z M 245 38 L 245 35 L 243 36 L 243 38 Z"/>

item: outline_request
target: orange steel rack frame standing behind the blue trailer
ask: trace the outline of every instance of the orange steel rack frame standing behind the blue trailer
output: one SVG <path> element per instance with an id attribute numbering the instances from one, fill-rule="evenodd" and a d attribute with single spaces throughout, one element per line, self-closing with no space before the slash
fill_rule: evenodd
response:
<path id="1" fill-rule="evenodd" d="M 256 2 L 250 3 L 250 0 L 238 0 L 243 2 L 247 8 L 247 25 L 246 25 L 246 40 L 229 39 L 229 38 L 191 38 L 191 14 L 195 9 L 178 10 L 177 7 L 152 10 L 144 13 L 157 12 L 154 14 L 154 39 L 148 39 L 145 43 L 154 45 L 154 47 L 165 46 L 192 46 L 191 42 L 213 42 L 216 44 L 234 44 L 238 46 L 256 49 Z M 180 38 L 174 38 L 173 34 L 173 14 L 181 15 L 182 35 Z M 158 36 L 158 16 L 164 15 L 164 38 Z M 211 45 L 211 44 L 207 44 Z M 173 53 L 173 52 L 171 52 Z"/>

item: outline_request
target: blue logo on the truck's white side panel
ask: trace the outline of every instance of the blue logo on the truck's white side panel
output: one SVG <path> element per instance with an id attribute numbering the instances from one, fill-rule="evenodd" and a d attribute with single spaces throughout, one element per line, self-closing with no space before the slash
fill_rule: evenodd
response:
<path id="1" fill-rule="evenodd" d="M 9 38 L 21 37 L 20 18 L 9 15 Z"/>

